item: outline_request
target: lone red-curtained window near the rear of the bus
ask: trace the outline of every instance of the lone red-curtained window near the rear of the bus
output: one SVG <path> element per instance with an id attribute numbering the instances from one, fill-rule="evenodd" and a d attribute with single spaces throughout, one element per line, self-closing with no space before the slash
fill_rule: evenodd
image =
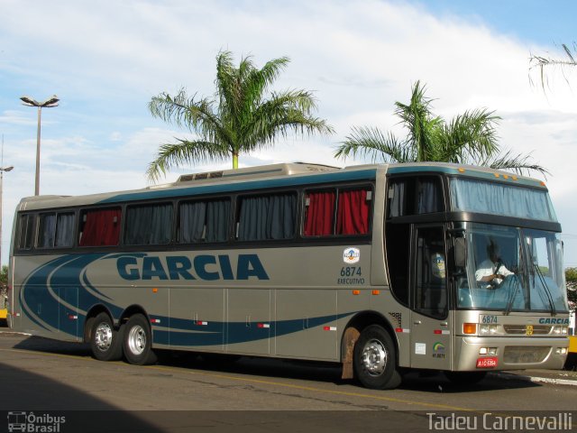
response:
<path id="1" fill-rule="evenodd" d="M 117 245 L 120 235 L 120 209 L 87 212 L 80 246 Z"/>

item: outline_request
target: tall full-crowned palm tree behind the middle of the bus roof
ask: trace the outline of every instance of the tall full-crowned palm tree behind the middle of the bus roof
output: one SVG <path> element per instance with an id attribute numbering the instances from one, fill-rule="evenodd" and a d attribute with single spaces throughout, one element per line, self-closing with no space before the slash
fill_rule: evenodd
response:
<path id="1" fill-rule="evenodd" d="M 231 52 L 221 51 L 216 56 L 216 100 L 188 97 L 184 88 L 174 97 L 167 93 L 152 97 L 149 108 L 153 116 L 185 126 L 196 136 L 162 144 L 148 167 L 149 180 L 158 180 L 172 166 L 230 156 L 236 169 L 241 152 L 271 146 L 277 136 L 286 137 L 291 131 L 332 134 L 333 128 L 325 120 L 311 115 L 316 103 L 310 92 L 270 92 L 265 98 L 288 63 L 289 58 L 282 57 L 257 69 L 249 56 L 235 68 Z"/>

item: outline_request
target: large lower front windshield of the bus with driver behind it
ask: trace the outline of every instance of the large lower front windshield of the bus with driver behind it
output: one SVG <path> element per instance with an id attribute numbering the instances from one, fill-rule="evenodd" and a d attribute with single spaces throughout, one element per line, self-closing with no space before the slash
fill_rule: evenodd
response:
<path id="1" fill-rule="evenodd" d="M 544 230 L 470 224 L 457 307 L 504 311 L 568 310 L 559 235 Z"/>

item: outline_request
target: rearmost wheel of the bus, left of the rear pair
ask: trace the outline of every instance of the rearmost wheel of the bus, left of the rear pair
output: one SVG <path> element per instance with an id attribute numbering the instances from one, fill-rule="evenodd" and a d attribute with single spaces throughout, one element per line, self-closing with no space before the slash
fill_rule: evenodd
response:
<path id="1" fill-rule="evenodd" d="M 102 312 L 90 320 L 90 348 L 100 361 L 118 361 L 123 357 L 122 327 L 114 329 L 110 316 Z"/>

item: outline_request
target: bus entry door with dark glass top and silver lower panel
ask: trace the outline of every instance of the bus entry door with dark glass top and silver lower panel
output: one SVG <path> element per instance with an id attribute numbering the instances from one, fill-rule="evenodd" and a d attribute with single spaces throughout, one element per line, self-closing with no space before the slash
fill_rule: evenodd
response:
<path id="1" fill-rule="evenodd" d="M 448 370 L 451 332 L 443 226 L 415 226 L 411 263 L 411 355 L 413 368 Z"/>

